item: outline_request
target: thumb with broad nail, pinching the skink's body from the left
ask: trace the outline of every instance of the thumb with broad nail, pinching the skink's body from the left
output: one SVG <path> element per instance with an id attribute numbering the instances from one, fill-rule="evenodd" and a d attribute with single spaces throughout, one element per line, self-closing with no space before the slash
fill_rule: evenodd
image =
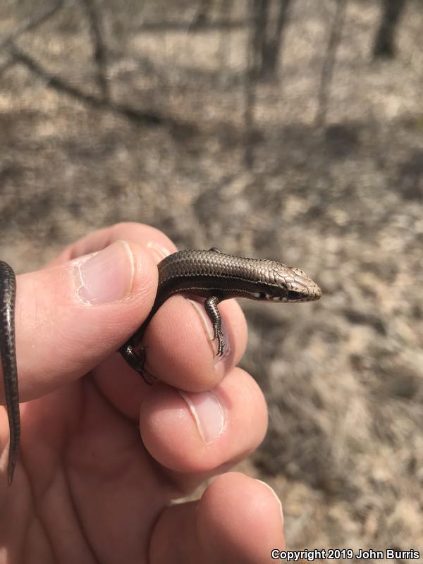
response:
<path id="1" fill-rule="evenodd" d="M 156 291 L 154 260 L 123 240 L 18 276 L 20 401 L 79 378 L 114 353 L 147 317 Z"/>

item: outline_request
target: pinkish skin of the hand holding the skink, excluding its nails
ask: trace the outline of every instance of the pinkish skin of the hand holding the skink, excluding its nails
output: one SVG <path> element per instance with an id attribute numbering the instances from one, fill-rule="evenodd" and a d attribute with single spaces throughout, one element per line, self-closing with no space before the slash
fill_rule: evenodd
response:
<path id="1" fill-rule="evenodd" d="M 133 259 L 128 295 L 87 305 L 77 295 L 78 257 L 113 243 Z M 152 307 L 160 248 L 176 250 L 152 227 L 120 223 L 18 276 L 22 435 L 9 488 L 1 410 L 0 564 L 260 564 L 272 548 L 284 548 L 274 493 L 226 472 L 257 448 L 267 424 L 262 392 L 236 367 L 247 328 L 235 300 L 219 306 L 230 343 L 219 362 L 207 326 L 181 295 L 145 333 L 147 367 L 158 384 L 146 386 L 114 353 Z M 114 271 L 119 283 L 116 264 Z M 211 389 L 219 397 L 225 424 L 213 441 L 202 439 L 178 389 L 190 398 Z M 215 476 L 196 501 L 171 505 Z"/>

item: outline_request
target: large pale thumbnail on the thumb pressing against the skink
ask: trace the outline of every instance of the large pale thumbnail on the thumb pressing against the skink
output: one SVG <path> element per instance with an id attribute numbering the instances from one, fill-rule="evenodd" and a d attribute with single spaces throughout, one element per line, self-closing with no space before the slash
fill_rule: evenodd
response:
<path id="1" fill-rule="evenodd" d="M 78 298 L 89 304 L 122 300 L 133 286 L 133 254 L 126 241 L 116 241 L 75 269 Z"/>

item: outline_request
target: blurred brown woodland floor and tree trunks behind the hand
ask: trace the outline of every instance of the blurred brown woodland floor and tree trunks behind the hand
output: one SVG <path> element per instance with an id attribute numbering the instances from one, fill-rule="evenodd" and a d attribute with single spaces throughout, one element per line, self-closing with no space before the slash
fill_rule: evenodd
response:
<path id="1" fill-rule="evenodd" d="M 423 551 L 419 0 L 2 0 L 0 257 L 102 226 L 300 266 L 243 300 L 290 548 Z"/>

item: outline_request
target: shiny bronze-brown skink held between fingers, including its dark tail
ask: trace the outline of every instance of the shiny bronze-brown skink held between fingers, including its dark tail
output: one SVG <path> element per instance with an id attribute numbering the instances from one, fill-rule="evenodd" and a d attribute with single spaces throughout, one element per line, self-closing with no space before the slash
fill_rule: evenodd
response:
<path id="1" fill-rule="evenodd" d="M 185 250 L 163 259 L 159 265 L 156 299 L 147 319 L 119 352 L 147 384 L 156 378 L 145 369 L 145 349 L 140 346 L 149 321 L 161 305 L 176 293 L 192 293 L 206 298 L 204 308 L 212 321 L 217 355 L 225 350 L 218 305 L 229 298 L 268 302 L 310 302 L 319 300 L 321 290 L 304 271 L 281 262 L 226 255 L 219 249 Z M 16 278 L 6 262 L 0 261 L 0 353 L 4 393 L 10 428 L 7 478 L 11 485 L 20 436 L 18 375 L 15 350 Z"/>

